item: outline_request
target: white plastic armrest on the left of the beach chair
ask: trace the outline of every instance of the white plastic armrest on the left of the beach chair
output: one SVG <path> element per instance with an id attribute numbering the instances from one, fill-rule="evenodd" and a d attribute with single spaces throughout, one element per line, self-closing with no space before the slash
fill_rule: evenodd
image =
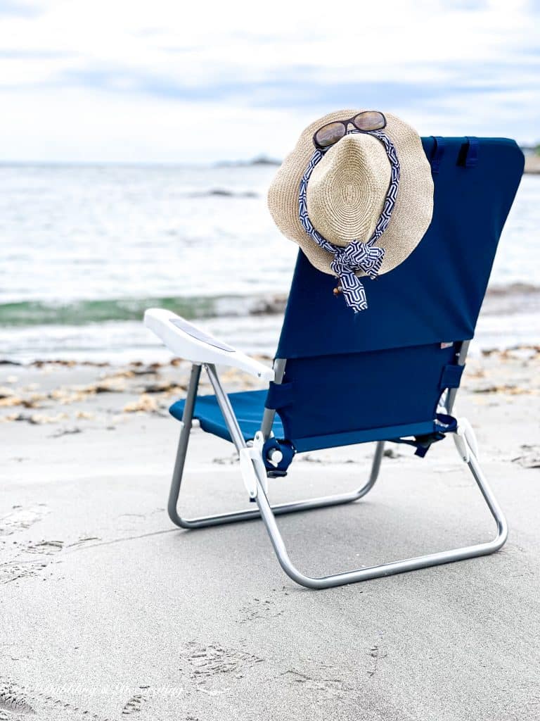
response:
<path id="1" fill-rule="evenodd" d="M 208 335 L 176 313 L 161 308 L 150 308 L 145 312 L 144 323 L 161 338 L 169 350 L 180 358 L 185 358 L 186 361 L 219 363 L 221 366 L 240 368 L 241 371 L 246 371 L 256 378 L 274 380 L 272 368 Z"/>

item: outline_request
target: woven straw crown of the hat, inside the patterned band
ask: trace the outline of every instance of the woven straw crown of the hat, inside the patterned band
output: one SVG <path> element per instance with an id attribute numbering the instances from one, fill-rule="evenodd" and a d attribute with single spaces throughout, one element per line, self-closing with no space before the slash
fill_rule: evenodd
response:
<path id="1" fill-rule="evenodd" d="M 307 184 L 310 220 L 330 243 L 366 242 L 382 213 L 391 166 L 382 143 L 354 133 L 326 151 Z"/>

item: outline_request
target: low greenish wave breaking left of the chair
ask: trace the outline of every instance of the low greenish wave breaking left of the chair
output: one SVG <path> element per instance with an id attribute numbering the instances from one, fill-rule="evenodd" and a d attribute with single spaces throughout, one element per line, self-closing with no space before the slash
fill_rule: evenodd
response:
<path id="1" fill-rule="evenodd" d="M 0 304 L 0 326 L 88 325 L 141 320 L 147 308 L 163 307 L 186 319 L 246 317 L 282 313 L 286 296 L 166 296 L 70 302 L 21 301 Z"/>

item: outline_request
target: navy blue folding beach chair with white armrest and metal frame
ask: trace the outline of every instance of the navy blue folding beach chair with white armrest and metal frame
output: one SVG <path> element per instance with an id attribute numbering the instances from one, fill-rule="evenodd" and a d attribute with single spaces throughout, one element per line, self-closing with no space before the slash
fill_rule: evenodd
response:
<path id="1" fill-rule="evenodd" d="M 292 580 L 308 588 L 379 578 L 490 554 L 508 528 L 487 485 L 467 420 L 452 415 L 469 341 L 484 298 L 500 233 L 523 172 L 523 154 L 505 138 L 423 138 L 433 172 L 433 220 L 405 262 L 367 281 L 369 309 L 354 314 L 335 279 L 299 252 L 274 367 L 249 358 L 163 309 L 145 324 L 172 352 L 192 362 L 185 399 L 171 406 L 181 422 L 168 502 L 181 528 L 262 518 Z M 267 390 L 226 394 L 216 366 L 269 381 Z M 201 369 L 215 395 L 197 396 Z M 186 519 L 177 510 L 192 419 L 232 441 L 240 474 L 257 508 Z M 491 541 L 311 578 L 292 564 L 276 516 L 351 503 L 372 489 L 386 441 L 410 443 L 425 456 L 451 435 L 496 523 Z M 365 485 L 342 495 L 271 505 L 268 479 L 287 474 L 297 453 L 375 442 Z M 436 453 L 436 449 L 431 451 Z M 320 516 L 319 523 L 325 523 Z"/>

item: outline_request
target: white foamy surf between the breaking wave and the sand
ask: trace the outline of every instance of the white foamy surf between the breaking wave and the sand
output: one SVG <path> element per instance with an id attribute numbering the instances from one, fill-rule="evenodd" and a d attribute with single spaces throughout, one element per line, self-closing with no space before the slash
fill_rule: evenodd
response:
<path id="1" fill-rule="evenodd" d="M 192 317 L 204 332 L 226 340 L 248 355 L 272 356 L 282 329 L 286 295 L 276 293 L 258 302 L 234 308 L 220 315 Z M 253 308 L 253 306 L 255 306 Z M 149 306 L 148 306 L 149 307 Z M 177 311 L 174 304 L 163 307 Z M 242 309 L 244 313 L 242 314 Z M 247 311 L 247 312 L 246 312 Z M 487 292 L 477 323 L 474 346 L 479 350 L 508 350 L 534 346 L 540 339 L 540 290 L 527 283 L 493 286 Z M 0 328 L 0 363 L 46 363 L 66 361 L 96 365 L 125 363 L 167 363 L 171 355 L 146 329 L 141 314 L 135 319 L 109 319 L 77 324 L 14 324 Z"/>

